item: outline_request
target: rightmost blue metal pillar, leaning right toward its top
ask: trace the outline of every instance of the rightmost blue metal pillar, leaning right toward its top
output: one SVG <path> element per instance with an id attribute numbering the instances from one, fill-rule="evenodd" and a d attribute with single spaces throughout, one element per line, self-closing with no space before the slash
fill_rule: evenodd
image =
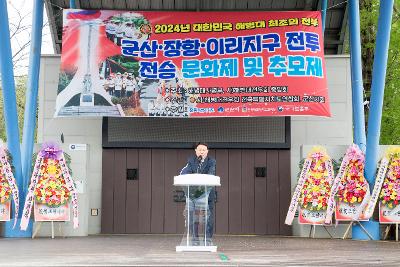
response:
<path id="1" fill-rule="evenodd" d="M 390 42 L 390 29 L 393 14 L 393 1 L 380 1 L 378 31 L 376 34 L 376 46 L 374 65 L 372 70 L 371 104 L 368 116 L 367 151 L 365 158 L 365 178 L 372 190 L 375 184 L 375 172 L 378 165 L 379 137 L 381 131 L 381 118 L 383 107 L 383 95 L 385 90 L 385 78 L 387 58 Z M 363 222 L 363 226 L 374 237 L 379 239 L 379 223 L 374 221 Z M 354 231 L 353 239 L 367 239 L 362 231 Z"/>

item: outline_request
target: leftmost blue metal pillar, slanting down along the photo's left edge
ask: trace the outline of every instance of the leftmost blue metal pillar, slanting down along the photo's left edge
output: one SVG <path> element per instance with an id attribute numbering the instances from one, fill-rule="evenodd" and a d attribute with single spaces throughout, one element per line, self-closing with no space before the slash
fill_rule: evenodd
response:
<path id="1" fill-rule="evenodd" d="M 15 97 L 14 70 L 11 54 L 10 29 L 8 26 L 8 13 L 6 0 L 0 0 L 0 72 L 4 102 L 4 117 L 6 123 L 7 146 L 13 157 L 15 168 L 14 176 L 18 188 L 23 187 L 21 169 L 21 151 L 19 142 L 18 112 Z M 20 192 L 20 198 L 22 194 Z M 20 205 L 23 205 L 20 204 Z M 14 207 L 14 204 L 13 204 Z M 15 207 L 14 207 L 15 208 Z M 26 232 L 20 231 L 19 226 L 12 230 L 14 221 L 6 222 L 4 236 L 19 237 L 25 236 Z M 29 235 L 31 236 L 31 235 Z"/>

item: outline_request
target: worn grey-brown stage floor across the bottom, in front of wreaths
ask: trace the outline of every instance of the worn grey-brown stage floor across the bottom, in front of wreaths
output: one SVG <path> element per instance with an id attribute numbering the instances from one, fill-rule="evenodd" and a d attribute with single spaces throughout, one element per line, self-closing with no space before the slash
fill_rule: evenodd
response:
<path id="1" fill-rule="evenodd" d="M 217 253 L 175 252 L 176 235 L 0 239 L 0 266 L 400 266 L 400 244 L 216 236 Z"/>

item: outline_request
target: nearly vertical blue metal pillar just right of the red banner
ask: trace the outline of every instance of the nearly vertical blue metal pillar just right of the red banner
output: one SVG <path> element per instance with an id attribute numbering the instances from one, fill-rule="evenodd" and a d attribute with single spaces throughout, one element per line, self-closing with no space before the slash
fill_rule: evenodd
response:
<path id="1" fill-rule="evenodd" d="M 349 5 L 351 89 L 353 104 L 353 140 L 365 152 L 365 115 L 363 105 L 363 80 L 361 63 L 360 11 L 359 1 L 351 0 Z"/>

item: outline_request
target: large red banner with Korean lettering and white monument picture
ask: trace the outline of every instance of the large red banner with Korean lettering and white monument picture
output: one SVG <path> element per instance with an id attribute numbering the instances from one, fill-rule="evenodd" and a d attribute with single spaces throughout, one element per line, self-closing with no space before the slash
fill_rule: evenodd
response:
<path id="1" fill-rule="evenodd" d="M 55 116 L 330 116 L 319 11 L 64 10 Z"/>

